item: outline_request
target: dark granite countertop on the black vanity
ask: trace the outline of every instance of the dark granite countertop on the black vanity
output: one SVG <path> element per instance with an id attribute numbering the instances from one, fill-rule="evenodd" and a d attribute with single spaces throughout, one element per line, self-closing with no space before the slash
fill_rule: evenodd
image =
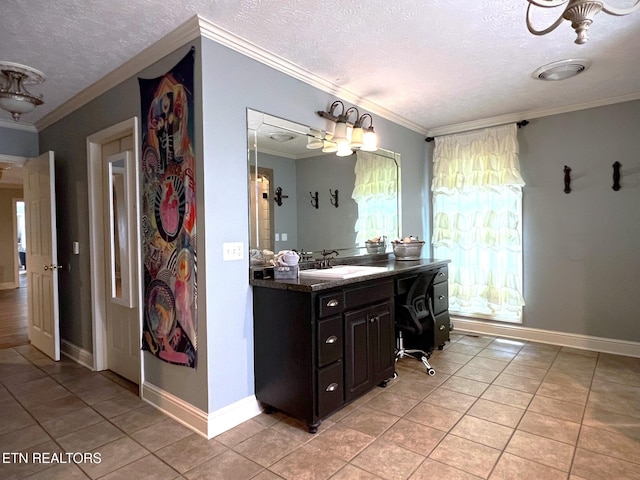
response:
<path id="1" fill-rule="evenodd" d="M 335 280 L 321 278 L 294 278 L 287 280 L 250 278 L 249 284 L 254 287 L 297 290 L 300 292 L 316 292 L 362 281 L 374 280 L 376 278 L 392 277 L 400 273 L 411 272 L 412 270 L 423 267 L 444 267 L 449 262 L 450 260 L 437 260 L 433 258 L 421 258 L 419 260 L 395 260 L 395 258 L 389 258 L 383 261 L 360 263 L 360 265 L 370 265 L 372 267 L 387 267 L 386 272 L 372 273 L 370 275 L 363 275 L 355 278 Z"/>

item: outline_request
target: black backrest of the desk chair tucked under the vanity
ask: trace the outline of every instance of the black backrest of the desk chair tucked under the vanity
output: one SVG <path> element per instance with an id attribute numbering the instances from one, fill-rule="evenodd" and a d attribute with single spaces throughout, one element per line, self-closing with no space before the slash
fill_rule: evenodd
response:
<path id="1" fill-rule="evenodd" d="M 433 328 L 429 290 L 435 273 L 425 272 L 413 281 L 403 304 L 396 305 L 396 325 L 414 335 L 422 335 Z"/>

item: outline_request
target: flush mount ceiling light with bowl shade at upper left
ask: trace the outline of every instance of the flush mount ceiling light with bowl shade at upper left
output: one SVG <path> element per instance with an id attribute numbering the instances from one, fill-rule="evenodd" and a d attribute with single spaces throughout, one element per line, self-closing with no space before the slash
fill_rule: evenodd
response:
<path id="1" fill-rule="evenodd" d="M 23 113 L 29 113 L 44 103 L 42 95 L 36 97 L 24 88 L 25 85 L 44 82 L 46 77 L 42 72 L 11 62 L 0 62 L 0 72 L 0 108 L 10 112 L 16 122 Z"/>

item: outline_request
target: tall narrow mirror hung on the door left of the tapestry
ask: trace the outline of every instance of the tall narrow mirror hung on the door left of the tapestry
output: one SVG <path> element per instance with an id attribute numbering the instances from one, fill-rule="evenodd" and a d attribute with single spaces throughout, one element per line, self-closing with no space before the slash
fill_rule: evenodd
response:
<path id="1" fill-rule="evenodd" d="M 135 296 L 132 282 L 132 209 L 129 181 L 132 175 L 132 153 L 121 152 L 107 157 L 109 192 L 109 274 L 111 301 L 132 308 Z"/>

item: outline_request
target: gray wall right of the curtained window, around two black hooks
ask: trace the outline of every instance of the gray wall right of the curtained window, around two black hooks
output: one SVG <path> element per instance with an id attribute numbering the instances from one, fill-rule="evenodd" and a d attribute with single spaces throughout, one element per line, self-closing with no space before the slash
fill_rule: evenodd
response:
<path id="1" fill-rule="evenodd" d="M 523 327 L 640 341 L 639 130 L 640 101 L 538 118 L 518 130 Z"/>

